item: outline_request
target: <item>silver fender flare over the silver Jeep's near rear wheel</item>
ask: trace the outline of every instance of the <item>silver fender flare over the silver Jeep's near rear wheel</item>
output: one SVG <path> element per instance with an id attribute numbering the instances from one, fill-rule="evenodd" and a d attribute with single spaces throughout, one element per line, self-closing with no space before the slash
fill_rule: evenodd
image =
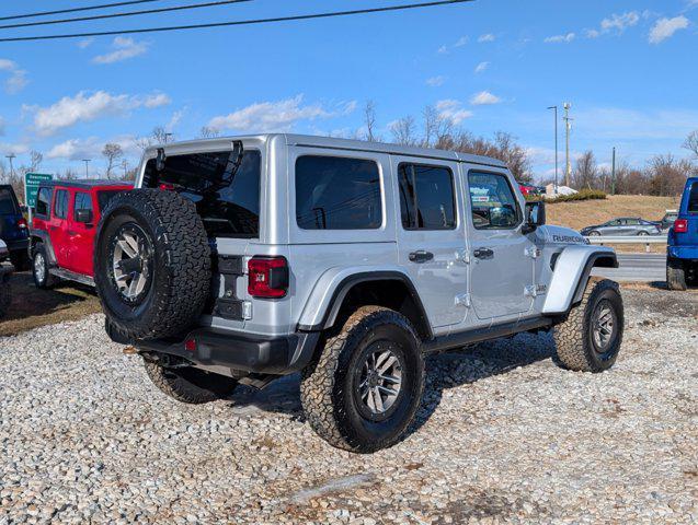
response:
<path id="1" fill-rule="evenodd" d="M 298 329 L 301 331 L 323 330 L 334 325 L 344 298 L 352 287 L 369 281 L 401 281 L 405 284 L 420 310 L 426 329 L 431 324 L 426 311 L 410 277 L 398 266 L 358 266 L 331 268 L 316 283 L 306 302 Z"/>

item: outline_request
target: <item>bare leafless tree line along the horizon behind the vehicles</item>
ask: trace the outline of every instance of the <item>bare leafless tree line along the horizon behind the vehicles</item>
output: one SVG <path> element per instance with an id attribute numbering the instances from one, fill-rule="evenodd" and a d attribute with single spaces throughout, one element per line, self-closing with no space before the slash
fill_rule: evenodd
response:
<path id="1" fill-rule="evenodd" d="M 387 141 L 403 145 L 436 148 L 474 155 L 484 155 L 505 162 L 512 174 L 522 183 L 534 182 L 533 159 L 529 151 L 518 143 L 517 137 L 505 131 L 497 131 L 491 138 L 479 137 L 455 124 L 447 112 L 434 106 L 426 106 L 419 120 L 411 115 L 404 116 L 387 126 L 389 137 L 379 131 L 376 105 L 367 102 L 363 108 L 363 126 L 354 131 L 329 133 L 333 137 L 353 138 L 370 142 Z M 199 138 L 214 138 L 219 130 L 203 127 Z M 150 135 L 139 137 L 135 143 L 140 150 L 152 144 L 167 143 L 174 136 L 162 127 L 152 129 Z M 691 132 L 683 147 L 690 152 L 693 159 L 678 159 L 675 155 L 656 154 L 644 166 L 631 166 L 621 162 L 616 166 L 615 177 L 606 165 L 599 165 L 593 151 L 585 151 L 574 162 L 570 186 L 574 189 L 600 189 L 606 192 L 626 195 L 675 196 L 684 188 L 686 178 L 698 175 L 698 130 Z M 38 151 L 30 152 L 30 161 L 10 173 L 5 163 L 0 162 L 0 180 L 11 184 L 18 197 L 24 198 L 24 174 L 41 170 L 44 156 Z M 133 180 L 136 167 L 130 166 L 124 149 L 118 143 L 106 143 L 102 149 L 103 171 L 96 166 L 92 177 L 107 179 Z M 562 166 L 561 166 L 562 167 Z M 81 178 L 82 174 L 68 167 L 56 174 L 60 179 Z M 552 183 L 553 177 L 539 179 L 540 184 Z M 559 184 L 564 180 L 564 170 L 560 170 Z"/>

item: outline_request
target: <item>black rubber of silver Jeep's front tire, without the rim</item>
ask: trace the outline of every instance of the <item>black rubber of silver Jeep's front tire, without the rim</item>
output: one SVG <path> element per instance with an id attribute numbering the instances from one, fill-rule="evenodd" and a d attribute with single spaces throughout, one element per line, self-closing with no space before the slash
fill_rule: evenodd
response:
<path id="1" fill-rule="evenodd" d="M 593 316 L 602 301 L 606 301 L 615 311 L 616 330 L 608 349 L 599 353 L 593 338 Z M 597 373 L 610 369 L 620 351 L 623 323 L 618 283 L 608 279 L 590 279 L 582 302 L 572 308 L 564 322 L 553 328 L 558 364 L 576 372 Z"/>

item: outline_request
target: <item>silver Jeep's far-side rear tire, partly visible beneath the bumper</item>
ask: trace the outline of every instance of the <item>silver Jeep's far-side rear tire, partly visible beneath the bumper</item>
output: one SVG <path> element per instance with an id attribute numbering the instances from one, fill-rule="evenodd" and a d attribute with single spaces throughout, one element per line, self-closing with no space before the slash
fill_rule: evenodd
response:
<path id="1" fill-rule="evenodd" d="M 190 405 L 202 405 L 230 397 L 238 386 L 232 377 L 194 368 L 167 369 L 144 360 L 150 381 L 171 398 Z"/>

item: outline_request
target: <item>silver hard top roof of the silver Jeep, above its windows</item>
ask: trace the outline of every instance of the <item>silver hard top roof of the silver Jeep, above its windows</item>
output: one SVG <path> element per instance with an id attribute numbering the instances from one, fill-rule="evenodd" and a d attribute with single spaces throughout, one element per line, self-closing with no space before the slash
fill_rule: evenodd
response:
<path id="1" fill-rule="evenodd" d="M 454 162 L 467 162 L 471 164 L 481 164 L 493 167 L 506 167 L 506 164 L 499 159 L 490 156 L 471 155 L 469 153 L 460 153 L 457 151 L 436 150 L 428 148 L 416 148 L 412 145 L 391 144 L 385 142 L 366 142 L 363 140 L 339 139 L 334 137 L 314 137 L 310 135 L 295 133 L 262 133 L 245 135 L 239 137 L 217 137 L 215 139 L 197 139 L 185 142 L 171 142 L 168 144 L 151 145 L 146 150 L 146 156 L 153 156 L 159 148 L 164 148 L 172 155 L 184 154 L 186 150 L 205 147 L 207 151 L 211 148 L 220 147 L 221 149 L 230 148 L 233 140 L 253 140 L 266 143 L 274 138 L 282 138 L 288 145 L 335 149 L 345 151 L 365 151 L 387 153 L 393 155 L 416 156 L 424 159 L 438 159 Z"/>

